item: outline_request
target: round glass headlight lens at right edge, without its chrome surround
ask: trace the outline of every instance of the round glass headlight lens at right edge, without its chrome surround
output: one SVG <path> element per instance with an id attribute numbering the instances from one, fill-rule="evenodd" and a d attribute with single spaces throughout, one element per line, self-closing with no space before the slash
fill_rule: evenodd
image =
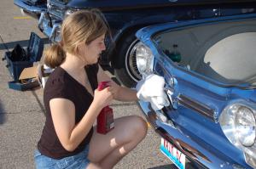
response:
<path id="1" fill-rule="evenodd" d="M 247 107 L 239 107 L 236 113 L 235 126 L 240 143 L 244 146 L 252 146 L 256 137 L 253 112 Z"/>

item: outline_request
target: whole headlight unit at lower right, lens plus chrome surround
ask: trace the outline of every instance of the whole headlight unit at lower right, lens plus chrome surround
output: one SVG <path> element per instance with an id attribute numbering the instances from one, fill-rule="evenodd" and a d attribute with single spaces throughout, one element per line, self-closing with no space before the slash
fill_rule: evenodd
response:
<path id="1" fill-rule="evenodd" d="M 240 100 L 229 104 L 219 116 L 225 136 L 237 148 L 256 158 L 256 109 L 254 104 Z"/>

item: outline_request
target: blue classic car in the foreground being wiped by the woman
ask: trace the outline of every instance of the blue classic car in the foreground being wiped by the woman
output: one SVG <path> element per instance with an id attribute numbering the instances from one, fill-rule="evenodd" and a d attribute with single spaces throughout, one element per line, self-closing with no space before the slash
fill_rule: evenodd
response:
<path id="1" fill-rule="evenodd" d="M 253 8 L 251 10 L 254 10 Z M 151 25 L 132 48 L 170 106 L 140 107 L 178 168 L 256 168 L 256 14 Z"/>

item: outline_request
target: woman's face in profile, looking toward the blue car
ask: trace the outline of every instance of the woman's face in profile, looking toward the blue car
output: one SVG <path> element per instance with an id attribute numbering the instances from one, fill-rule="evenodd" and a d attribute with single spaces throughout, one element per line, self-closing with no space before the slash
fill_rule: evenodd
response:
<path id="1" fill-rule="evenodd" d="M 106 49 L 104 39 L 105 34 L 97 37 L 88 45 L 84 43 L 79 45 L 79 56 L 86 65 L 92 65 L 98 62 L 102 51 Z"/>

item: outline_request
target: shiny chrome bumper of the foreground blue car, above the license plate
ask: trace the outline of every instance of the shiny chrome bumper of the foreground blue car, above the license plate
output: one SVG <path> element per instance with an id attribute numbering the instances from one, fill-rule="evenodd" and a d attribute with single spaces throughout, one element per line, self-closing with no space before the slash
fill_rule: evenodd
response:
<path id="1" fill-rule="evenodd" d="M 175 145 L 177 149 L 186 155 L 189 161 L 197 164 L 200 168 L 251 168 L 246 164 L 242 164 L 242 166 L 237 164 L 236 161 L 232 161 L 228 156 L 215 155 L 208 150 L 209 148 L 189 138 L 168 119 L 166 111 L 171 110 L 170 108 L 155 112 L 151 109 L 150 104 L 146 102 L 139 101 L 139 105 L 148 122 L 154 127 L 155 132 Z"/>

